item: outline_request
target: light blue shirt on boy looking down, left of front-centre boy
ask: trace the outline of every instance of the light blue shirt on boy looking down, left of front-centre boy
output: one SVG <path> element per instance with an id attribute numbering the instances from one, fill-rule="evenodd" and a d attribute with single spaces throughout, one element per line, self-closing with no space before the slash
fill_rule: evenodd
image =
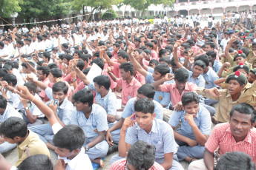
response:
<path id="1" fill-rule="evenodd" d="M 81 111 L 74 111 L 71 115 L 71 124 L 80 126 L 85 132 L 86 139 L 85 144 L 90 143 L 95 137 L 98 136 L 98 132 L 108 130 L 107 112 L 102 106 L 93 103 L 91 109 L 91 115 L 89 118 L 85 118 L 85 114 Z"/>

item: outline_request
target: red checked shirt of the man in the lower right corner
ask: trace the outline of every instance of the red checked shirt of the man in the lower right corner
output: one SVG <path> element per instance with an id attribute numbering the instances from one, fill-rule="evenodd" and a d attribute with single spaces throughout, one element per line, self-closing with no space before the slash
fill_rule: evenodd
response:
<path id="1" fill-rule="evenodd" d="M 249 130 L 243 141 L 236 142 L 229 123 L 217 124 L 211 132 L 211 136 L 206 142 L 206 149 L 214 153 L 218 149 L 220 155 L 226 152 L 244 152 L 252 157 L 252 161 L 256 163 L 256 129 Z"/>

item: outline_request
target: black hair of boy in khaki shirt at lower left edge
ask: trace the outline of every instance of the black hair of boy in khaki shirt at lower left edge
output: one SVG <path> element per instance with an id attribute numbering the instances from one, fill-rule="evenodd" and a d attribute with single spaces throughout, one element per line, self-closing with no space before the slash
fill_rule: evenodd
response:
<path id="1" fill-rule="evenodd" d="M 7 118 L 0 126 L 0 135 L 11 139 L 14 137 L 25 137 L 27 133 L 27 123 L 22 118 Z"/>

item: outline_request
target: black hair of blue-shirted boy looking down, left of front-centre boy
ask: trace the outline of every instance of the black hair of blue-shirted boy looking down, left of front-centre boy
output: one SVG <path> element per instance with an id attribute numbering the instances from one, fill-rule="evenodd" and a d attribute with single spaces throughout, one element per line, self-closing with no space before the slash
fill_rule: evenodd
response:
<path id="1" fill-rule="evenodd" d="M 88 89 L 81 89 L 73 95 L 73 101 L 81 103 L 88 103 L 89 106 L 93 105 L 93 92 Z"/>

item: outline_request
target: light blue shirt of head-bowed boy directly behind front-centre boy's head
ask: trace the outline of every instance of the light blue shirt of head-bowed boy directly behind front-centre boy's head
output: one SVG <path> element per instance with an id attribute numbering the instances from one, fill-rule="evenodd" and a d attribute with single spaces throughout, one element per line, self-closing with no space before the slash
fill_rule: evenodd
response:
<path id="1" fill-rule="evenodd" d="M 137 98 L 131 98 L 125 105 L 125 109 L 122 112 L 122 118 L 127 118 L 135 113 L 134 104 Z M 156 118 L 163 120 L 163 106 L 157 101 L 154 101 L 154 112 L 156 113 Z"/>

